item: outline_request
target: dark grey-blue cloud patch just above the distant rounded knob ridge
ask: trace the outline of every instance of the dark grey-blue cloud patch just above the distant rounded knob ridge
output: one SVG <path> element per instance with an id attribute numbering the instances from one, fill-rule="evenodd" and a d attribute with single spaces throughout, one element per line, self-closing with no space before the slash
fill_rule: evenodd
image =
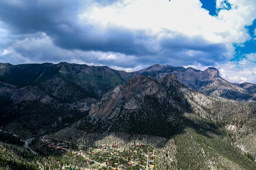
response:
<path id="1" fill-rule="evenodd" d="M 195 61 L 204 65 L 221 63 L 226 59 L 225 53 L 228 51 L 224 43 L 209 43 L 199 36 L 188 38 L 181 34 L 162 38 L 160 46 L 164 49 L 162 55 L 173 54 L 172 58 L 184 60 L 186 64 Z"/>

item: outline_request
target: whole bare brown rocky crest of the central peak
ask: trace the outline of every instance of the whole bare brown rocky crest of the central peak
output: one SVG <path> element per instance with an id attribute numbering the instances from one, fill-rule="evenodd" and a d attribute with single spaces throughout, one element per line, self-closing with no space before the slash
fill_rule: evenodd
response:
<path id="1" fill-rule="evenodd" d="M 162 98 L 167 96 L 166 89 L 174 85 L 175 82 L 178 83 L 178 79 L 172 74 L 161 79 L 138 75 L 130 79 L 125 87 L 118 86 L 110 90 L 100 102 L 92 104 L 89 116 L 104 120 L 110 114 L 118 114 L 122 110 L 121 107 L 130 111 L 141 109 L 142 102 L 147 96 L 154 96 L 158 102 L 161 102 Z M 177 87 L 179 86 L 177 85 Z"/>

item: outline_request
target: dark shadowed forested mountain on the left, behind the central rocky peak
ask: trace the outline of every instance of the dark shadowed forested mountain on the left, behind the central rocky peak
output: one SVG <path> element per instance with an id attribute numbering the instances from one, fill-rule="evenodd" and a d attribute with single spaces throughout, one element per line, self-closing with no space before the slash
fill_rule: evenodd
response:
<path id="1" fill-rule="evenodd" d="M 25 136 L 63 127 L 130 77 L 109 67 L 0 63 L 0 126 Z"/>

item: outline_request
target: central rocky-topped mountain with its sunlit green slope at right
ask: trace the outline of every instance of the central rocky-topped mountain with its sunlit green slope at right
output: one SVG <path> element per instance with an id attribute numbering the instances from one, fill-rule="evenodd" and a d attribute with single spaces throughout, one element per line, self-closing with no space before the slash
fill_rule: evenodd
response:
<path id="1" fill-rule="evenodd" d="M 82 146 L 126 148 L 134 138 L 156 147 L 162 161 L 156 169 L 254 169 L 255 147 L 245 139 L 252 138 L 255 113 L 255 103 L 204 95 L 173 74 L 158 79 L 137 75 L 92 104 L 88 117 L 54 136 Z"/>

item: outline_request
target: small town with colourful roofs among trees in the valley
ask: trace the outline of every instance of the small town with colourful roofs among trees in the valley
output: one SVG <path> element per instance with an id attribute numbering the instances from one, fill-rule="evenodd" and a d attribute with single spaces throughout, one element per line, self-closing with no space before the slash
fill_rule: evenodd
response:
<path id="1" fill-rule="evenodd" d="M 154 168 L 154 147 L 143 144 L 131 145 L 128 148 L 122 148 L 117 144 L 74 146 L 69 142 L 45 136 L 35 139 L 31 144 L 32 148 L 35 144 L 42 145 L 50 152 L 82 158 L 84 164 L 92 169 L 153 170 Z M 56 164 L 61 164 L 61 161 L 57 161 Z"/>

